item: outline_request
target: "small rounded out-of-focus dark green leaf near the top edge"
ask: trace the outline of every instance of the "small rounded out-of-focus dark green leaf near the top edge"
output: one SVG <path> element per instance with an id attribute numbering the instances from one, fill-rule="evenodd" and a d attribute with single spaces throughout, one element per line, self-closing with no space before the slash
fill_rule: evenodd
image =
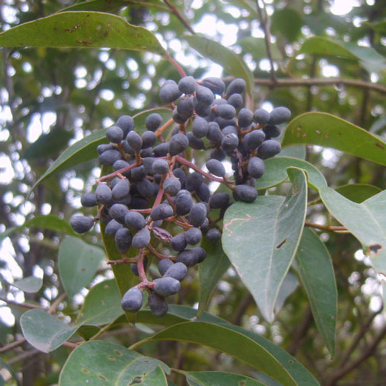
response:
<path id="1" fill-rule="evenodd" d="M 303 27 L 303 19 L 295 9 L 285 7 L 276 9 L 272 15 L 272 33 L 280 32 L 290 43 L 299 35 Z"/>

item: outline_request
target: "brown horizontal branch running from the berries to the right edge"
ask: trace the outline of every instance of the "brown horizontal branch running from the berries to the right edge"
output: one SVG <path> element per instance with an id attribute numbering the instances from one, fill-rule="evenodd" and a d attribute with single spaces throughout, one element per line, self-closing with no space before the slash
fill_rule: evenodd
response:
<path id="1" fill-rule="evenodd" d="M 386 87 L 380 84 L 366 82 L 364 80 L 344 79 L 344 78 L 278 78 L 275 81 L 267 78 L 256 78 L 255 84 L 268 87 L 303 87 L 303 86 L 328 86 L 334 84 L 344 84 L 347 86 L 361 87 L 362 89 L 369 89 L 377 91 L 381 94 L 386 94 Z"/>

